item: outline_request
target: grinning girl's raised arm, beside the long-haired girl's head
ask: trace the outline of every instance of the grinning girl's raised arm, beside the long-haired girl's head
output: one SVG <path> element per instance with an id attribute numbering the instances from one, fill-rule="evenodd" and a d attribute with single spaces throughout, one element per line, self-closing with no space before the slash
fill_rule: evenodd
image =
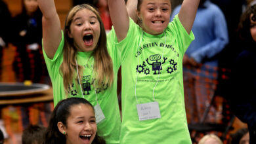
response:
<path id="1" fill-rule="evenodd" d="M 117 40 L 125 39 L 129 29 L 129 16 L 124 0 L 108 0 L 108 8 Z"/>

